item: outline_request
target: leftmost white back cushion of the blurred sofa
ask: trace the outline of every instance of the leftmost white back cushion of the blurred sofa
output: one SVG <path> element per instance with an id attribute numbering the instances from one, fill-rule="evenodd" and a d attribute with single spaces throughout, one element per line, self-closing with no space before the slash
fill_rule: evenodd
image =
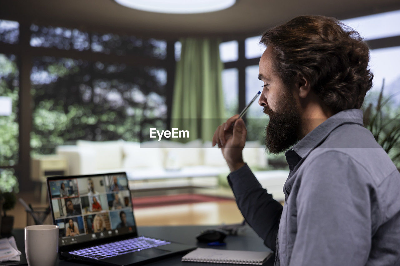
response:
<path id="1" fill-rule="evenodd" d="M 118 141 L 76 141 L 78 147 L 92 149 L 95 152 L 96 169 L 112 169 L 122 167 L 122 143 Z"/>

